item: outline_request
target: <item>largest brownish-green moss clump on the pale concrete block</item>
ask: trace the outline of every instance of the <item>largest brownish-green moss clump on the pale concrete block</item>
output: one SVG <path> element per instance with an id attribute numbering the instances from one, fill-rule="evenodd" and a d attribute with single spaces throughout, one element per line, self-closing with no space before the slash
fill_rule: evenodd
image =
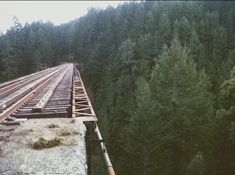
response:
<path id="1" fill-rule="evenodd" d="M 51 140 L 46 140 L 44 138 L 39 138 L 36 142 L 33 143 L 34 149 L 44 149 L 44 148 L 53 148 L 59 146 L 61 143 L 61 139 L 55 137 Z"/>

